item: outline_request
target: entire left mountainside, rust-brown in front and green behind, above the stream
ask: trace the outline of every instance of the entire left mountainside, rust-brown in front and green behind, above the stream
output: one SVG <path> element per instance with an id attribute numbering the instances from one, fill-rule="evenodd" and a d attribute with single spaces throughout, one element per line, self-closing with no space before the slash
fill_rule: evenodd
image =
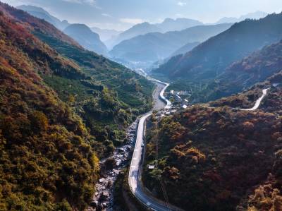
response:
<path id="1" fill-rule="evenodd" d="M 0 35 L 0 210 L 85 210 L 154 85 L 2 3 Z"/>

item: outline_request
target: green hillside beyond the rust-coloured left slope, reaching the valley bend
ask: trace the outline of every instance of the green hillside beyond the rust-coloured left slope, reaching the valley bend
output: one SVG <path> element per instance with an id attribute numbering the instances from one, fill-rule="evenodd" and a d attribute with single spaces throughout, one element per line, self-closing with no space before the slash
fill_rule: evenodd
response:
<path id="1" fill-rule="evenodd" d="M 81 72 L 65 77 L 59 68 L 54 68 L 55 74 L 42 76 L 45 83 L 75 108 L 92 134 L 101 136 L 102 141 L 110 140 L 110 144 L 106 142 L 108 150 L 113 147 L 112 141 L 118 144 L 123 140 L 120 129 L 151 107 L 153 84 L 124 66 L 82 49 L 44 20 L 7 6 L 6 10 L 25 23 L 39 40 L 71 59 Z M 104 150 L 99 151 L 103 155 Z"/>

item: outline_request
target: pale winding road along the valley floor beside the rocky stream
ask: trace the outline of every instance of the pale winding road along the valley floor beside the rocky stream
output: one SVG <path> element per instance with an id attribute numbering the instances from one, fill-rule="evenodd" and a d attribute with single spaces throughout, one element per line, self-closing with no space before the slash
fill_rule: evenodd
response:
<path id="1" fill-rule="evenodd" d="M 154 80 L 155 82 L 159 83 L 159 81 Z M 164 84 L 164 83 L 161 83 Z M 160 92 L 160 98 L 161 100 L 165 100 L 167 102 L 166 107 L 170 106 L 170 102 L 166 100 L 164 97 L 164 91 L 168 87 L 169 84 L 165 83 L 165 87 Z M 168 103 L 169 102 L 169 103 Z M 152 112 L 149 112 L 141 117 L 138 128 L 137 128 L 137 136 L 136 136 L 136 143 L 135 143 L 135 149 L 133 152 L 133 158 L 131 159 L 130 164 L 130 170 L 128 175 L 128 183 L 130 186 L 130 190 L 135 195 L 135 197 L 140 200 L 140 202 L 148 207 L 151 210 L 157 210 L 157 211 L 167 211 L 167 210 L 178 210 L 176 208 L 167 207 L 166 203 L 161 202 L 160 200 L 155 200 L 152 198 L 152 196 L 147 195 L 142 191 L 142 188 L 140 187 L 140 176 L 141 176 L 141 170 L 142 169 L 142 152 L 143 147 L 145 147 L 144 143 L 144 132 L 145 132 L 145 121 L 146 119 L 152 115 Z"/>

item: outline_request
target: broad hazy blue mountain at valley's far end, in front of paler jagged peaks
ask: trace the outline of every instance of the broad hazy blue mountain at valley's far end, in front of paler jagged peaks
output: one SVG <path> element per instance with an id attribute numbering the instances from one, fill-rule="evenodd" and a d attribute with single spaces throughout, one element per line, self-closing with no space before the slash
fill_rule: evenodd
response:
<path id="1" fill-rule="evenodd" d="M 182 31 L 148 33 L 116 45 L 109 52 L 113 58 L 125 61 L 154 62 L 171 56 L 185 43 L 203 42 L 214 35 L 223 32 L 232 24 L 200 25 Z"/>

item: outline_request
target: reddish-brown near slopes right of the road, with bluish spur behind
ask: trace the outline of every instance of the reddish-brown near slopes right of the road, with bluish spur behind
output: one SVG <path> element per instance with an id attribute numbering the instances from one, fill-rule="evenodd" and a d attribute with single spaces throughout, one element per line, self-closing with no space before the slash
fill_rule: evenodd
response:
<path id="1" fill-rule="evenodd" d="M 145 166 L 154 169 L 144 169 L 146 188 L 161 198 L 161 177 L 169 202 L 185 210 L 281 210 L 281 46 L 264 47 L 228 68 L 223 85 L 260 81 L 252 88 L 162 119 L 153 114 Z M 257 110 L 240 110 L 252 108 L 264 89 Z"/>

